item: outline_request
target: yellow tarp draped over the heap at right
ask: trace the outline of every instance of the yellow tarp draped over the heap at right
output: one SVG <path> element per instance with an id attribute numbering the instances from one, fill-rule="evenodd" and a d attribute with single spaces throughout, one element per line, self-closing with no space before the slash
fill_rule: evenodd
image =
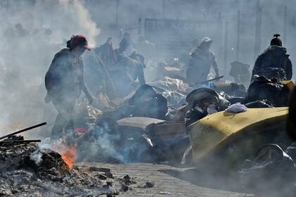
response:
<path id="1" fill-rule="evenodd" d="M 240 134 L 256 134 L 266 129 L 285 127 L 288 108 L 255 108 L 245 113 L 219 112 L 190 125 L 195 163 Z"/>

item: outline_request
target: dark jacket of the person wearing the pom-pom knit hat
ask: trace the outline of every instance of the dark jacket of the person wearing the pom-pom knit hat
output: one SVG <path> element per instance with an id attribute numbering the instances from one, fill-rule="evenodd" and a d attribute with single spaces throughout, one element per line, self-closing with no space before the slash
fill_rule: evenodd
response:
<path id="1" fill-rule="evenodd" d="M 291 80 L 292 78 L 292 63 L 287 54 L 287 49 L 281 46 L 269 46 L 261 55 L 258 56 L 252 76 L 254 75 L 268 75 L 269 70 L 273 68 L 282 68 L 285 71 L 285 78 Z M 266 76 L 270 78 L 269 76 Z"/>

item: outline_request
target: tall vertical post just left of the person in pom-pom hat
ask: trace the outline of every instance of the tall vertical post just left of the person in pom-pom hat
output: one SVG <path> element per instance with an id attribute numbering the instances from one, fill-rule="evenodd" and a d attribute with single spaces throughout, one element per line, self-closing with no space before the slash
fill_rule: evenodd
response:
<path id="1" fill-rule="evenodd" d="M 255 23 L 255 43 L 254 43 L 254 60 L 260 53 L 261 48 L 261 21 L 262 21 L 262 8 L 260 7 L 260 0 L 257 1 L 256 6 L 256 23 Z"/>

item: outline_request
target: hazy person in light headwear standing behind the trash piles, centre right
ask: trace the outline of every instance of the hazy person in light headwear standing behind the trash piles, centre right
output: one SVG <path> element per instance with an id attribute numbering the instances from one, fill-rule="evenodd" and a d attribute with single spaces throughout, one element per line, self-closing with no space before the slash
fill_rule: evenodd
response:
<path id="1" fill-rule="evenodd" d="M 204 37 L 199 46 L 191 53 L 186 71 L 187 82 L 190 84 L 205 81 L 209 75 L 211 66 L 216 72 L 216 77 L 219 76 L 218 64 L 214 52 L 209 49 L 212 43 L 209 37 Z"/>

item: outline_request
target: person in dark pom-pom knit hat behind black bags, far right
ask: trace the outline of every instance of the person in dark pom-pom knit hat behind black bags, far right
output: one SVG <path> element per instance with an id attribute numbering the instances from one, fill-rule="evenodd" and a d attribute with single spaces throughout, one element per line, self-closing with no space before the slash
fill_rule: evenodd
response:
<path id="1" fill-rule="evenodd" d="M 258 56 L 253 71 L 254 75 L 264 75 L 267 79 L 277 78 L 278 80 L 291 80 L 292 63 L 287 54 L 287 49 L 282 46 L 282 41 L 278 38 L 280 34 L 274 34 L 269 46 Z"/>

